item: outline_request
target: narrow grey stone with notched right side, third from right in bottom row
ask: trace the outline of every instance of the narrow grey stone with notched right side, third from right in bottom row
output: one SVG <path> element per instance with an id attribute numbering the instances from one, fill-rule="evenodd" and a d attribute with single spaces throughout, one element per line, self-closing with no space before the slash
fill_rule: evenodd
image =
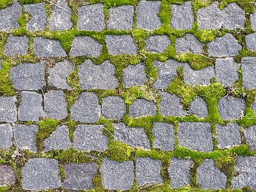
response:
<path id="1" fill-rule="evenodd" d="M 189 169 L 192 162 L 192 159 L 177 159 L 176 157 L 172 157 L 169 167 L 171 188 L 182 188 L 191 183 Z"/>

